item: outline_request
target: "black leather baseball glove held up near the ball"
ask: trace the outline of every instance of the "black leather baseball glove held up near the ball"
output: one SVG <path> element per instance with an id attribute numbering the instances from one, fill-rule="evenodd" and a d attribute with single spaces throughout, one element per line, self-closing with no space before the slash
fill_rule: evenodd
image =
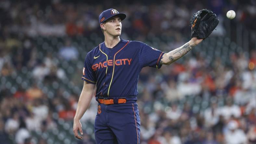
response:
<path id="1" fill-rule="evenodd" d="M 202 9 L 196 12 L 190 19 L 192 38 L 207 38 L 219 24 L 217 16 L 208 9 Z"/>

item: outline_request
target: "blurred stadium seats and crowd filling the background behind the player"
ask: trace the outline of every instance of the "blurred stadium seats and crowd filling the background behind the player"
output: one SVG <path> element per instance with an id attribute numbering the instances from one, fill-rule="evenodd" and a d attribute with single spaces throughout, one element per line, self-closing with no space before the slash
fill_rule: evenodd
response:
<path id="1" fill-rule="evenodd" d="M 86 54 L 104 41 L 99 14 L 127 14 L 122 39 L 163 52 L 190 39 L 189 20 L 208 8 L 220 23 L 186 56 L 138 83 L 141 144 L 256 143 L 255 0 L 1 0 L 0 143 L 94 144 L 97 102 L 73 117 Z M 226 18 L 228 10 L 236 18 Z"/>

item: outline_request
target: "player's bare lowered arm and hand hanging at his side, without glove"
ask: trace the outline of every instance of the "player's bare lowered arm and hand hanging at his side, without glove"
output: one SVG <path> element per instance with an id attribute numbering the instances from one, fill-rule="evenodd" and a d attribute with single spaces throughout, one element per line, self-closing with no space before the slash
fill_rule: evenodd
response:
<path id="1" fill-rule="evenodd" d="M 80 98 L 78 100 L 76 114 L 74 117 L 74 124 L 73 124 L 73 132 L 76 138 L 83 139 L 83 137 L 78 135 L 78 130 L 83 135 L 82 125 L 80 123 L 80 119 L 82 118 L 85 111 L 88 109 L 93 93 L 94 93 L 95 84 L 90 84 L 84 81 L 83 83 L 83 90 L 81 92 Z"/>

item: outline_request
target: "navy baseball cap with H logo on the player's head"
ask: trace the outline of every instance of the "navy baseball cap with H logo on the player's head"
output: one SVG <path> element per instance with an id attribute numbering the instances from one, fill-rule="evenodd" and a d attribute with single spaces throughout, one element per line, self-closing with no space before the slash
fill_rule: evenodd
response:
<path id="1" fill-rule="evenodd" d="M 126 18 L 126 14 L 124 13 L 119 13 L 116 9 L 110 8 L 108 10 L 103 11 L 100 15 L 99 15 L 99 23 L 104 23 L 107 19 L 114 17 L 114 16 L 118 16 L 121 18 L 121 20 L 124 20 L 124 18 Z"/>

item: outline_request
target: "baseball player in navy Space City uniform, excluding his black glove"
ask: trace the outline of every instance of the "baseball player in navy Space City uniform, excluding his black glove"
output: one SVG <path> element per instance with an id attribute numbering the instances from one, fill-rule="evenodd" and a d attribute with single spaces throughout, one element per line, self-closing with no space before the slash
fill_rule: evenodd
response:
<path id="1" fill-rule="evenodd" d="M 73 132 L 83 135 L 80 119 L 92 100 L 96 85 L 98 111 L 95 119 L 97 144 L 139 144 L 140 117 L 137 100 L 139 73 L 145 66 L 161 68 L 188 53 L 203 39 L 192 38 L 183 46 L 164 53 L 143 42 L 120 38 L 124 13 L 108 9 L 99 15 L 105 41 L 90 51 L 84 60 L 81 92 Z"/>

